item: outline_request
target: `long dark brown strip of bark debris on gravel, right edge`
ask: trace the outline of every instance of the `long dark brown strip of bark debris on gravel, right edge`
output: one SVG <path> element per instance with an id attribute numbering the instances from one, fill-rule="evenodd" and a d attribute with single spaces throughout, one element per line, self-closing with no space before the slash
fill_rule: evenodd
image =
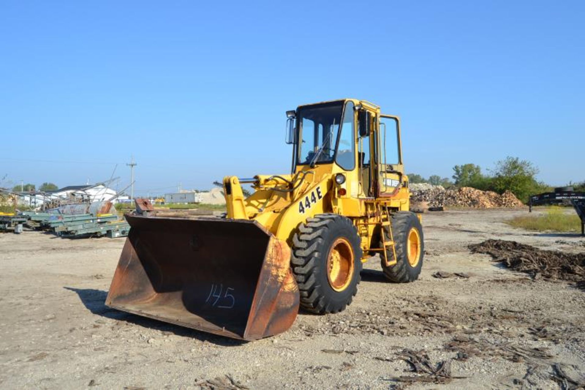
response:
<path id="1" fill-rule="evenodd" d="M 545 251 L 515 241 L 487 240 L 469 245 L 473 253 L 490 255 L 514 271 L 528 273 L 532 279 L 560 279 L 585 282 L 585 253 L 569 254 L 560 251 Z"/>

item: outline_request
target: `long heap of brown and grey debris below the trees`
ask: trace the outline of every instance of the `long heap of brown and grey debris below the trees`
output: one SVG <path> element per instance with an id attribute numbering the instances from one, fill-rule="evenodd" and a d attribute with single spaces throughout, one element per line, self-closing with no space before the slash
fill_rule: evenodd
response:
<path id="1" fill-rule="evenodd" d="M 425 202 L 429 207 L 519 207 L 523 206 L 510 191 L 498 194 L 493 191 L 481 191 L 471 187 L 449 188 L 433 186 L 428 183 L 410 184 L 411 201 Z"/>

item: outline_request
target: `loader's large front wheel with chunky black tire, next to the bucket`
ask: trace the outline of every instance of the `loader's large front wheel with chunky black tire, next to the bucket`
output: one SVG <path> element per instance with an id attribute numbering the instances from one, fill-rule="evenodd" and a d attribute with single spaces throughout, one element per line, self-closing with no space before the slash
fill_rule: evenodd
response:
<path id="1" fill-rule="evenodd" d="M 308 218 L 292 237 L 291 265 L 305 310 L 341 312 L 356 295 L 362 271 L 356 227 L 337 214 Z"/>

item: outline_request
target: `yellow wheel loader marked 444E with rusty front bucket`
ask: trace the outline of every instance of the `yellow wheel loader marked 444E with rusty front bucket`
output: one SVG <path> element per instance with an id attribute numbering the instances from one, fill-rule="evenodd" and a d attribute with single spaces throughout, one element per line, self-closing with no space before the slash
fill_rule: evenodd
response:
<path id="1" fill-rule="evenodd" d="M 106 305 L 256 340 L 287 330 L 300 306 L 345 309 L 374 254 L 391 282 L 418 278 L 424 240 L 408 211 L 398 118 L 355 99 L 287 118 L 291 173 L 225 177 L 224 218 L 126 215 Z M 245 197 L 242 184 L 254 192 Z"/>

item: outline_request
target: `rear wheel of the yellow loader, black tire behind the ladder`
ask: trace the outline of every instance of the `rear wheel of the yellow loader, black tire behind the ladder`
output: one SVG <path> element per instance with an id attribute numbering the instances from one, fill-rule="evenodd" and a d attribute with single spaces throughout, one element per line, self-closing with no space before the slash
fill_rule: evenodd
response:
<path id="1" fill-rule="evenodd" d="M 382 271 L 391 282 L 414 282 L 421 273 L 425 251 L 421 222 L 417 215 L 410 211 L 398 211 L 392 215 L 391 223 L 397 262 L 394 265 L 386 266 L 382 258 Z M 386 241 L 390 241 L 390 232 L 387 227 L 384 227 L 384 235 Z M 383 248 L 381 242 L 380 248 Z M 388 259 L 394 258 L 392 247 L 388 247 L 386 256 Z"/>

